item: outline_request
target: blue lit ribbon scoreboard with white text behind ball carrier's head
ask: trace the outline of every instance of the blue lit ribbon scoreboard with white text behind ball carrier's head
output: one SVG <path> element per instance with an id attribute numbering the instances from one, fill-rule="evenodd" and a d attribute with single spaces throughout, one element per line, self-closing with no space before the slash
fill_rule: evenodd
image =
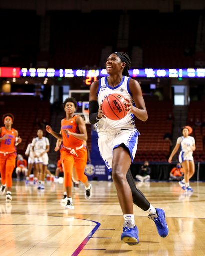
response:
<path id="1" fill-rule="evenodd" d="M 55 70 L 54 68 L 22 68 L 20 70 L 20 76 L 24 77 L 103 77 L 107 76 L 106 69 L 60 69 Z M 146 77 L 146 78 L 155 78 L 155 77 L 169 77 L 169 78 L 183 78 L 183 77 L 194 77 L 194 78 L 203 78 L 205 77 L 205 68 L 187 68 L 187 69 L 130 69 L 130 77 Z M 7 76 L 10 77 L 10 76 Z M 13 76 L 12 76 L 13 77 Z M 16 76 L 17 77 L 17 76 Z M 90 79 L 91 80 L 91 79 Z"/>

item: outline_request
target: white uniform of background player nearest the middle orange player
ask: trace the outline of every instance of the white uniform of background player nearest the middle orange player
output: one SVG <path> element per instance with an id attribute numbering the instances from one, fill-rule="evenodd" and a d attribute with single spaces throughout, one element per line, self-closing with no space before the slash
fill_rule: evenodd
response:
<path id="1" fill-rule="evenodd" d="M 34 152 L 38 156 L 38 158 L 35 157 L 35 164 L 43 163 L 43 165 L 48 165 L 48 154 L 45 153 L 42 157 L 39 156 L 47 149 L 47 146 L 49 145 L 49 139 L 46 137 L 42 137 L 41 139 L 37 137 L 33 139 L 32 146 L 34 146 Z"/>

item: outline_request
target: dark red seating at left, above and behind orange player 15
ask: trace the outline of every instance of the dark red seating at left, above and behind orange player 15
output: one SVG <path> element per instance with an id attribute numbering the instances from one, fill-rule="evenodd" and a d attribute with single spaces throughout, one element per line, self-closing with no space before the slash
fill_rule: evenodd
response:
<path id="1" fill-rule="evenodd" d="M 25 156 L 27 145 L 32 142 L 33 137 L 37 136 L 37 130 L 43 129 L 41 126 L 43 119 L 49 123 L 50 103 L 40 101 L 40 98 L 33 96 L 2 96 L 0 102 L 1 116 L 5 113 L 14 115 L 13 128 L 18 130 L 22 138 L 22 142 L 17 146 L 17 153 Z M 44 131 L 44 136 L 46 136 L 46 131 Z"/>

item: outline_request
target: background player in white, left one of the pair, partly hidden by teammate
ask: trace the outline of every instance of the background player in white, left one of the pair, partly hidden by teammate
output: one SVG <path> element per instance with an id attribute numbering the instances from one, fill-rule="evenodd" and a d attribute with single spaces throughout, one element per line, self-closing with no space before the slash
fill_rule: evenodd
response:
<path id="1" fill-rule="evenodd" d="M 35 139 L 35 138 L 33 138 Z M 33 155 L 32 151 L 32 143 L 28 144 L 27 149 L 25 151 L 25 155 L 28 156 L 28 172 L 25 183 L 29 183 L 29 176 L 31 174 L 32 166 L 33 166 L 33 174 L 34 174 L 34 181 L 33 184 L 35 185 L 37 182 L 37 171 L 36 171 L 36 165 L 35 165 L 35 157 Z"/>

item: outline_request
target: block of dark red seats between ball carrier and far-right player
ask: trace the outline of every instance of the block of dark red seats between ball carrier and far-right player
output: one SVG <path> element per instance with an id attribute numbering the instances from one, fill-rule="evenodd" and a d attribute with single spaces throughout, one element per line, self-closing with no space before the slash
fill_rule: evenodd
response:
<path id="1" fill-rule="evenodd" d="M 138 149 L 134 161 L 166 162 L 170 154 L 170 140 L 163 139 L 166 132 L 172 134 L 173 123 L 167 120 L 172 113 L 172 102 L 146 102 L 148 120 L 135 119 L 140 132 Z"/>

